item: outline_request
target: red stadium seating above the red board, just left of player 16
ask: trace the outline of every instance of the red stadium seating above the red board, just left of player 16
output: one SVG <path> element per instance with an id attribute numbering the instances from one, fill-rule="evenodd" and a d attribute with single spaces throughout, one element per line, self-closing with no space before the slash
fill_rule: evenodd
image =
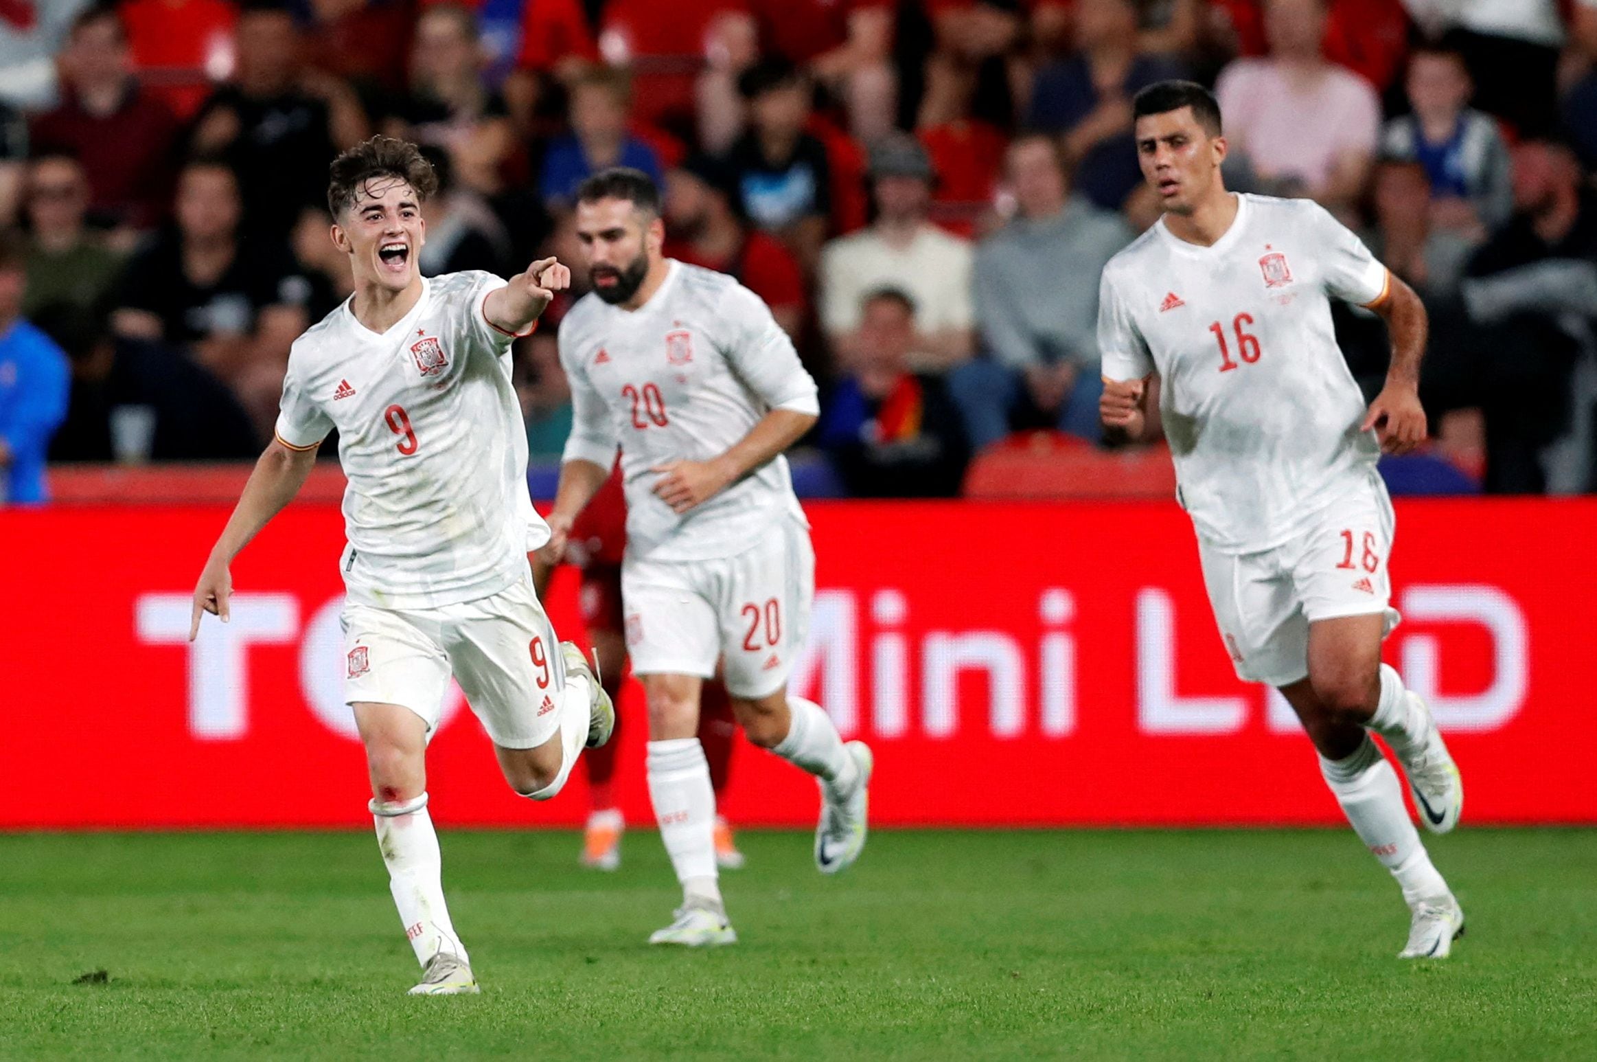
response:
<path id="1" fill-rule="evenodd" d="M 1014 434 L 965 473 L 968 498 L 1169 498 L 1171 452 L 1159 442 L 1102 450 L 1060 431 Z"/>

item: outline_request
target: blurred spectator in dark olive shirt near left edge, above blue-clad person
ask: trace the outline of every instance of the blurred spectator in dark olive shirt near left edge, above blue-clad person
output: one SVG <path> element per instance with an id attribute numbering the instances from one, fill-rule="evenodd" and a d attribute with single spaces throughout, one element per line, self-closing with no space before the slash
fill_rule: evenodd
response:
<path id="1" fill-rule="evenodd" d="M 77 158 L 43 153 L 29 163 L 26 316 L 53 305 L 89 310 L 115 287 L 121 256 L 89 233 L 88 204 L 89 182 Z"/>

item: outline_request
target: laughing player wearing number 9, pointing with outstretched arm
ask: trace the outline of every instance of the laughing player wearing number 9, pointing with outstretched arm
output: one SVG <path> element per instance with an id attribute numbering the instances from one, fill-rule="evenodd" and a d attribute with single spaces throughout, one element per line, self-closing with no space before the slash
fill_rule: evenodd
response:
<path id="1" fill-rule="evenodd" d="M 422 203 L 438 187 L 415 145 L 359 144 L 332 163 L 332 241 L 355 294 L 294 342 L 276 438 L 195 588 L 228 618 L 232 559 L 303 485 L 334 428 L 348 476 L 345 699 L 366 746 L 371 811 L 406 936 L 423 966 L 414 995 L 476 992 L 444 905 L 426 811 L 426 743 L 450 676 L 525 797 L 561 791 L 615 711 L 580 650 L 559 644 L 532 589 L 529 551 L 549 538 L 527 495 L 527 436 L 511 386 L 511 340 L 570 270 L 533 262 L 490 273 L 417 271 Z"/>

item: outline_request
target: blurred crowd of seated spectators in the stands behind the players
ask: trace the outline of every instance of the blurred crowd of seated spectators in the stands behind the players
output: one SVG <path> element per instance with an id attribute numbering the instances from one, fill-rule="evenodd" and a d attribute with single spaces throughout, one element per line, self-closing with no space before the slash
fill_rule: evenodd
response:
<path id="1" fill-rule="evenodd" d="M 1450 489 L 1597 485 L 1597 0 L 0 0 L 0 482 L 256 455 L 350 294 L 327 163 L 374 133 L 439 171 L 428 275 L 577 265 L 578 182 L 656 176 L 668 254 L 792 334 L 850 493 L 1100 446 L 1099 273 L 1158 217 L 1131 97 L 1167 77 L 1215 88 L 1230 187 L 1421 292 Z M 1337 326 L 1378 388 L 1381 323 Z M 533 460 L 556 342 L 516 350 Z"/>

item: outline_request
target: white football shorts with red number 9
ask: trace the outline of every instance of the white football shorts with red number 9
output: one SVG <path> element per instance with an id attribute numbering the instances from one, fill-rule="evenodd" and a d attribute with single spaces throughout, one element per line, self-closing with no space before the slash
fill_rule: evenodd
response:
<path id="1" fill-rule="evenodd" d="M 559 730 L 565 666 L 532 572 L 490 597 L 438 608 L 345 604 L 343 699 L 399 704 L 438 728 L 454 676 L 493 744 L 533 749 Z"/>

